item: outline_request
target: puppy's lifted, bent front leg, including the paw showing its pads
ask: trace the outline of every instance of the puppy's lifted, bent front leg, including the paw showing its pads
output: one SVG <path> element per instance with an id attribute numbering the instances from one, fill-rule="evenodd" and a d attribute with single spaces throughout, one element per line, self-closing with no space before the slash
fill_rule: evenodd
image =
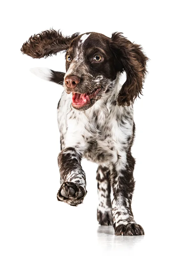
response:
<path id="1" fill-rule="evenodd" d="M 86 195 L 86 177 L 81 167 L 82 154 L 75 147 L 64 148 L 58 156 L 61 187 L 57 198 L 67 204 L 78 205 Z"/>

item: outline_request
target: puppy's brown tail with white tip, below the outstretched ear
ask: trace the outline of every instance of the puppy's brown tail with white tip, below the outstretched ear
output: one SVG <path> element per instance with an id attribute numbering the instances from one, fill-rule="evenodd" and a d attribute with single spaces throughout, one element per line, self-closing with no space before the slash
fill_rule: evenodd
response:
<path id="1" fill-rule="evenodd" d="M 55 82 L 57 84 L 63 84 L 65 73 L 59 71 L 53 71 L 49 68 L 30 68 L 31 73 L 46 81 Z"/>

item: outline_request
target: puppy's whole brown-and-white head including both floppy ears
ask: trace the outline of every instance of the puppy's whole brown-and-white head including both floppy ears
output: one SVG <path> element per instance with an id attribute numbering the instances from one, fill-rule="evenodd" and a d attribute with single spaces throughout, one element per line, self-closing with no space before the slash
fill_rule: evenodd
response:
<path id="1" fill-rule="evenodd" d="M 138 44 L 131 43 L 122 33 L 109 38 L 89 32 L 62 36 L 53 29 L 31 36 L 21 51 L 32 58 L 43 58 L 66 52 L 64 88 L 72 92 L 72 106 L 90 108 L 112 90 L 117 74 L 126 71 L 126 82 L 118 93 L 120 106 L 130 105 L 142 94 L 148 58 Z"/>

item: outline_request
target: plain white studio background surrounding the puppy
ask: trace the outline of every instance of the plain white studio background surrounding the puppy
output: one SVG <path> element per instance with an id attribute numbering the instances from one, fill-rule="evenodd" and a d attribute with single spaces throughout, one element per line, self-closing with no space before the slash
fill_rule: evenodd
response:
<path id="1" fill-rule="evenodd" d="M 179 20 L 176 1 L 9 1 L 1 4 L 1 255 L 172 255 L 179 240 Z M 132 209 L 145 236 L 98 227 L 96 164 L 83 160 L 88 194 L 58 202 L 56 108 L 63 91 L 29 72 L 65 71 L 63 54 L 34 60 L 22 44 L 42 30 L 123 32 L 150 58 L 134 106 Z M 177 251 L 178 250 L 178 251 Z"/>

